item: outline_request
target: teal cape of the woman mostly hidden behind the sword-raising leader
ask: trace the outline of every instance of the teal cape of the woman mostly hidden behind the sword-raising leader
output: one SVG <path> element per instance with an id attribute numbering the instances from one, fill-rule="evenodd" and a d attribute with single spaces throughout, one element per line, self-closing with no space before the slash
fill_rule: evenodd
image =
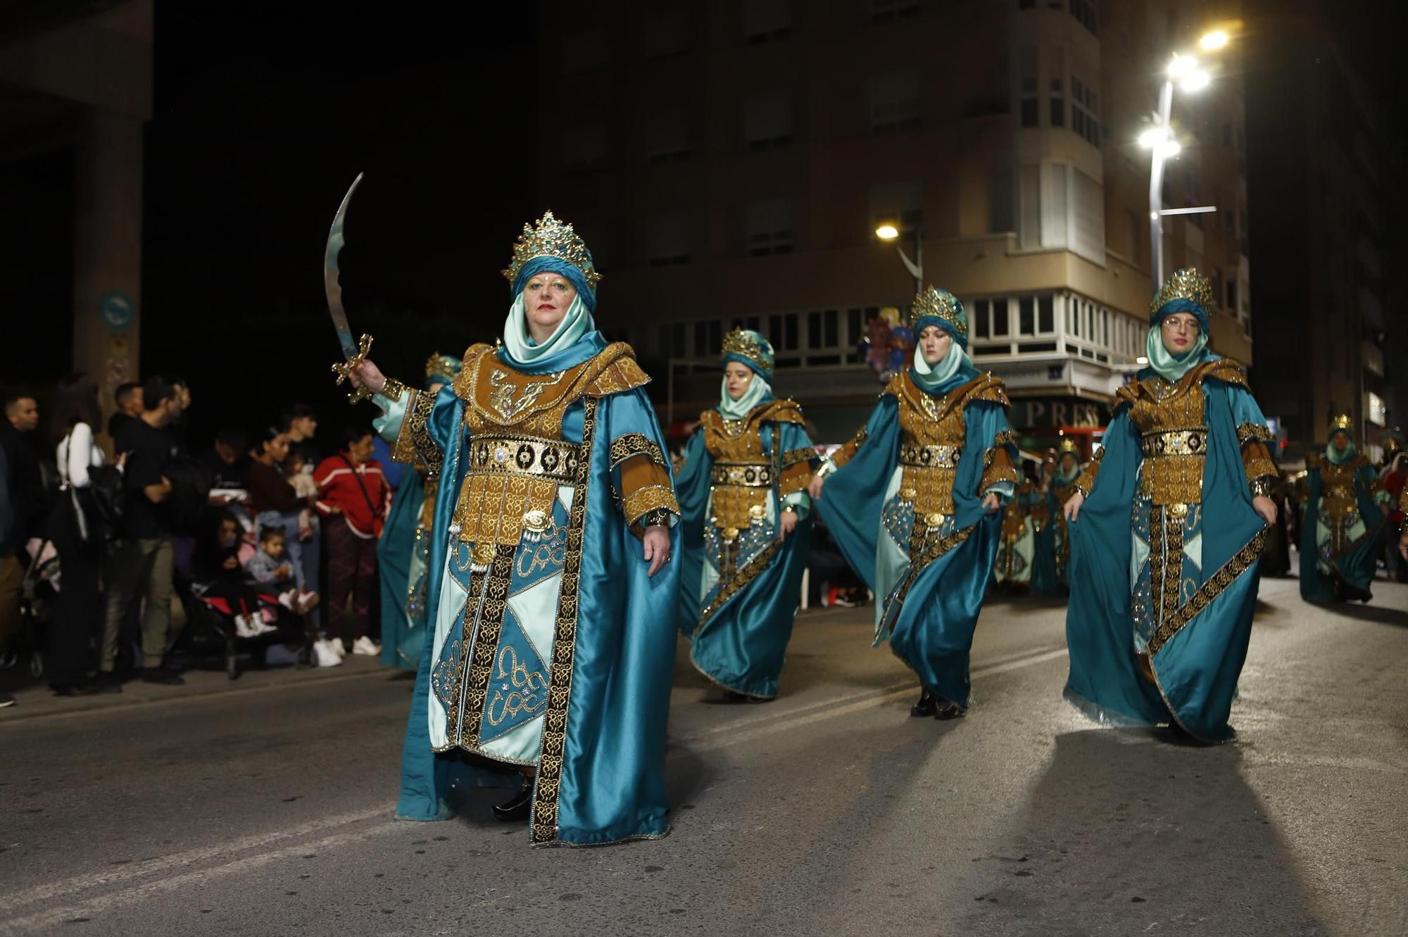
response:
<path id="1" fill-rule="evenodd" d="M 425 643 L 424 606 L 418 620 L 407 615 L 411 589 L 411 556 L 415 552 L 415 528 L 425 502 L 425 480 L 408 467 L 401 485 L 391 497 L 386 529 L 376 544 L 376 568 L 382 578 L 382 663 L 387 667 L 415 670 Z"/>

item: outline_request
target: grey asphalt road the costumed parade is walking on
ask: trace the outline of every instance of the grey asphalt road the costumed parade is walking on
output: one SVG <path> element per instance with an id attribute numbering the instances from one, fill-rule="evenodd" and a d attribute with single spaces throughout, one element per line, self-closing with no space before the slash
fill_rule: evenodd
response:
<path id="1" fill-rule="evenodd" d="M 966 719 L 870 609 L 798 619 L 769 705 L 680 657 L 674 830 L 531 848 L 391 820 L 410 681 L 369 661 L 0 710 L 0 933 L 1408 933 L 1408 587 L 1262 587 L 1233 744 L 1098 729 L 1060 699 L 1064 608 L 995 601 Z"/>

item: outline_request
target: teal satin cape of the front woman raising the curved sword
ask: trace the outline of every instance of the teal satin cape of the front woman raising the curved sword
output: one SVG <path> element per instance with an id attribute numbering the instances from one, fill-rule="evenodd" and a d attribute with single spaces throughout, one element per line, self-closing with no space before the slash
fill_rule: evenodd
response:
<path id="1" fill-rule="evenodd" d="M 545 374 L 580 364 L 605 346 L 600 332 L 590 332 L 565 352 L 531 367 L 505 360 L 503 349 L 498 355 L 515 370 Z M 432 526 L 425 604 L 429 620 L 441 601 L 449 525 L 467 468 L 467 460 L 462 459 L 469 438 L 463 431 L 463 407 L 446 385 L 427 421 L 445 453 Z M 565 433 L 570 435 L 573 423 L 583 425 L 582 412 L 580 400 L 569 407 Z M 610 443 L 629 432 L 645 433 L 665 452 L 643 388 L 604 397 L 597 404 L 572 680 L 570 684 L 553 680 L 551 687 L 551 692 L 567 695 L 558 829 L 553 839 L 535 844 L 600 846 L 655 839 L 669 831 L 665 726 L 674 668 L 674 629 L 670 625 L 679 574 L 677 564 L 672 563 L 653 578 L 646 575 L 641 540 L 627 528 L 614 502 Z M 677 526 L 672 528 L 672 550 L 679 552 Z M 470 765 L 455 751 L 438 754 L 431 750 L 427 709 L 432 649 L 434 642 L 427 640 L 415 674 L 401 753 L 397 819 L 446 820 L 453 816 L 453 805 L 465 788 L 518 785 L 518 772 L 510 765 Z M 556 647 L 553 657 L 558 657 Z M 534 795 L 535 809 L 539 796 L 545 796 L 541 782 Z"/>

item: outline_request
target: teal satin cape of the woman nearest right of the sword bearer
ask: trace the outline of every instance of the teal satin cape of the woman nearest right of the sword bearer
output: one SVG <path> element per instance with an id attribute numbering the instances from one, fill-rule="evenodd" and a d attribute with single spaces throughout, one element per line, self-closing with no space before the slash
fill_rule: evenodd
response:
<path id="1" fill-rule="evenodd" d="M 769 395 L 759 405 L 770 400 Z M 759 435 L 763 453 L 773 464 L 774 478 L 781 477 L 783 453 L 812 447 L 807 431 L 797 423 L 765 423 Z M 772 699 L 777 695 L 787 642 L 791 640 L 793 619 L 801 595 L 801 574 L 807 568 L 811 549 L 812 519 L 810 515 L 801 516 L 772 561 L 701 625 L 701 613 L 718 592 L 715 584 L 708 594 L 701 595 L 704 564 L 710 559 L 705 556 L 704 515 L 708 509 L 712 467 L 714 459 L 704 445 L 704 431 L 698 429 L 684 449 L 684 466 L 674 478 L 683 526 L 676 623 L 690 639 L 690 661 L 701 674 L 724 689 Z M 779 518 L 783 501 L 777 497 L 776 487 L 770 497 L 773 516 Z M 715 563 L 717 559 L 715 556 Z"/>

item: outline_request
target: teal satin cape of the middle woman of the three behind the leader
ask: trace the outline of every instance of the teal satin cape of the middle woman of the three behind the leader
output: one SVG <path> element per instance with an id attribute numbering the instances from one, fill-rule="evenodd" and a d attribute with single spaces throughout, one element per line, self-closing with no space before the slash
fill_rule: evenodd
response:
<path id="1" fill-rule="evenodd" d="M 926 393 L 942 397 L 977 376 L 977 369 L 964 366 Z M 1005 409 L 991 401 L 967 404 L 963 416 L 966 436 L 953 480 L 953 529 L 972 528 L 972 533 L 925 566 L 903 601 L 897 601 L 898 595 L 876 597 L 884 602 L 876 642 L 888 637 L 890 650 L 926 689 L 959 705 L 967 705 L 972 696 L 969 651 L 1002 529 L 1001 511 L 988 514 L 981 506 L 983 453 L 998 432 L 1008 429 Z M 1018 453 L 1011 443 L 1008 454 L 1015 464 Z M 842 556 L 872 591 L 879 539 L 888 536 L 880 526 L 887 483 L 898 464 L 898 401 L 883 394 L 866 421 L 865 443 L 826 478 L 817 502 Z M 907 578 L 908 574 L 901 575 L 900 582 Z"/>

